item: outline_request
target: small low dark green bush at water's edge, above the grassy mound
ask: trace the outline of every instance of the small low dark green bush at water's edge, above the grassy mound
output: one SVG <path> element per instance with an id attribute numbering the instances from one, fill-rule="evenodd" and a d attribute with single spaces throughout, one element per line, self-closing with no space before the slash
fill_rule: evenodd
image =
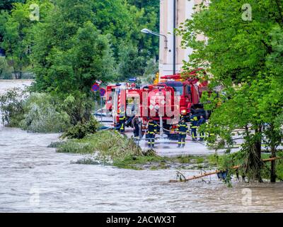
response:
<path id="1" fill-rule="evenodd" d="M 92 118 L 91 121 L 88 121 L 87 123 L 78 123 L 76 126 L 72 126 L 61 138 L 82 139 L 88 134 L 96 133 L 98 126 L 98 121 Z"/>

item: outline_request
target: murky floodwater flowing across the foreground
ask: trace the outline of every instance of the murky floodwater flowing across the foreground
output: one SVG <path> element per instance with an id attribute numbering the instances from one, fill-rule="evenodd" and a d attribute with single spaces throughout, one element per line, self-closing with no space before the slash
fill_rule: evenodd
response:
<path id="1" fill-rule="evenodd" d="M 15 82 L 0 82 L 11 87 Z M 169 183 L 175 170 L 74 165 L 47 148 L 58 134 L 0 126 L 0 212 L 282 212 L 283 184 Z M 185 176 L 198 171 L 183 171 Z"/>

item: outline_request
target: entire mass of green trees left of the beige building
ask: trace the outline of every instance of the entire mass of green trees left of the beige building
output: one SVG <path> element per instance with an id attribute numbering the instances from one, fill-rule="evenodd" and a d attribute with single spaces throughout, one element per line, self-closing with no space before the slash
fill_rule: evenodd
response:
<path id="1" fill-rule="evenodd" d="M 30 21 L 30 4 L 38 4 L 39 21 Z M 140 7 L 125 0 L 25 1 L 1 13 L 1 46 L 17 77 L 25 68 L 32 70 L 31 91 L 60 99 L 76 125 L 91 118 L 93 82 L 144 74 L 157 55 L 158 38 L 140 31 L 156 28 L 156 12 L 151 4 Z"/>

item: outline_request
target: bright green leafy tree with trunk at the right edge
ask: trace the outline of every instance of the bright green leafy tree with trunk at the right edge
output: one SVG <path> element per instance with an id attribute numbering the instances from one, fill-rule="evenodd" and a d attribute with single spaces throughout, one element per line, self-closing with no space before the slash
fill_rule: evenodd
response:
<path id="1" fill-rule="evenodd" d="M 241 128 L 246 174 L 261 180 L 262 141 L 275 145 L 272 149 L 282 141 L 278 128 L 282 125 L 275 126 L 283 100 L 282 1 L 248 3 L 251 20 L 243 20 L 248 13 L 242 10 L 246 1 L 212 0 L 209 7 L 201 4 L 202 10 L 178 32 L 183 35 L 183 45 L 195 49 L 185 70 L 204 67 L 213 75 L 211 88 L 221 87 L 218 95 L 204 97 L 211 101 L 207 109 L 214 111 L 209 132 L 232 144 L 233 130 Z M 197 35 L 205 35 L 207 41 Z"/>

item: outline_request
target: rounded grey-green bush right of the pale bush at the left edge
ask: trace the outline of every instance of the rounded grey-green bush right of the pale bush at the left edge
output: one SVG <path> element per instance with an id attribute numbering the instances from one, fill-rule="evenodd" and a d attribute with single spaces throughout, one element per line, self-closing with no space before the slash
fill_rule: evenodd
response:
<path id="1" fill-rule="evenodd" d="M 60 110 L 50 94 L 33 93 L 23 105 L 21 128 L 33 133 L 61 133 L 70 126 L 69 115 Z"/>

